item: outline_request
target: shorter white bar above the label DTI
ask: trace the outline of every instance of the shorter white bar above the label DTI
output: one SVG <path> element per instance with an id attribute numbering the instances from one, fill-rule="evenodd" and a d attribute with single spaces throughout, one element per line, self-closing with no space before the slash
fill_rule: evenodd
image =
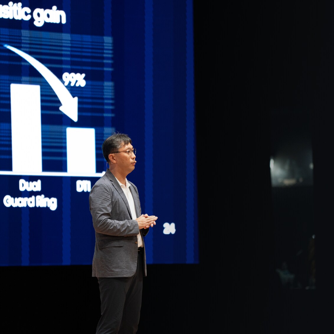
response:
<path id="1" fill-rule="evenodd" d="M 68 173 L 96 173 L 94 128 L 66 128 L 66 149 Z"/>

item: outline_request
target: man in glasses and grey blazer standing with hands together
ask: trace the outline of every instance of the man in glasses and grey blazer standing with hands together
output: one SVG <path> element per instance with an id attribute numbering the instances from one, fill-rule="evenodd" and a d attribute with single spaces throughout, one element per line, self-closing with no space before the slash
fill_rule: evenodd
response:
<path id="1" fill-rule="evenodd" d="M 109 169 L 89 196 L 95 229 L 92 276 L 98 278 L 101 299 L 96 333 L 133 334 L 138 330 L 147 275 L 144 236 L 158 217 L 141 213 L 138 189 L 126 178 L 136 164 L 131 138 L 114 133 L 102 151 Z"/>

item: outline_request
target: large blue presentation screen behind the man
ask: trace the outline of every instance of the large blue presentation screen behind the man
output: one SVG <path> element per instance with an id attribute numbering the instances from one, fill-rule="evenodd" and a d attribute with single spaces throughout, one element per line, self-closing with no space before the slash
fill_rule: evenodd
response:
<path id="1" fill-rule="evenodd" d="M 159 217 L 147 263 L 198 263 L 192 1 L 2 1 L 0 32 L 0 266 L 92 264 L 114 132 Z"/>

